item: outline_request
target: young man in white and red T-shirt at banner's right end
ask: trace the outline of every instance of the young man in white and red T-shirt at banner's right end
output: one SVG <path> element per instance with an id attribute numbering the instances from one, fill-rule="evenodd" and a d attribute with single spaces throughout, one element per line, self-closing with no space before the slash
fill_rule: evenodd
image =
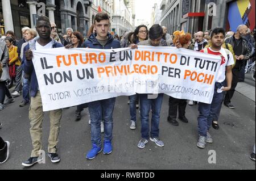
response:
<path id="1" fill-rule="evenodd" d="M 234 64 L 234 59 L 232 53 L 228 49 L 222 48 L 224 39 L 224 29 L 214 28 L 214 30 L 210 34 L 212 46 L 200 51 L 221 57 L 221 65 L 216 75 L 216 83 L 214 85 L 214 95 L 212 103 L 199 103 L 199 116 L 197 118 L 199 138 L 197 142 L 197 147 L 201 149 L 205 148 L 206 142 L 213 143 L 213 139 L 212 136 L 210 136 L 209 129 L 212 125 L 214 117 L 217 117 L 218 111 L 220 110 L 222 100 L 224 98 L 224 91 L 228 91 L 231 88 L 232 65 Z M 224 87 L 225 79 L 228 85 L 227 87 Z"/>

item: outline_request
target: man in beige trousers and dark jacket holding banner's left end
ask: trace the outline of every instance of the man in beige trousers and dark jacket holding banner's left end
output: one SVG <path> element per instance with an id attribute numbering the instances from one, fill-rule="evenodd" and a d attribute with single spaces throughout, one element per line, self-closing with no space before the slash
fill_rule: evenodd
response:
<path id="1" fill-rule="evenodd" d="M 49 49 L 49 48 L 59 48 L 63 47 L 60 43 L 57 43 L 51 39 L 51 24 L 46 16 L 39 16 L 36 22 L 36 31 L 39 37 L 32 40 L 24 48 L 23 65 L 22 68 L 24 73 L 29 74 L 31 77 L 30 83 L 30 93 L 31 93 L 31 103 L 29 110 L 30 117 L 30 135 L 32 139 L 33 150 L 31 157 L 22 162 L 23 166 L 32 166 L 35 163 L 42 161 L 41 150 L 42 150 L 42 122 L 43 122 L 43 106 L 42 98 L 38 86 L 38 79 L 36 78 L 35 68 L 32 62 L 32 51 L 39 49 Z M 40 61 L 40 60 L 38 60 Z M 48 156 L 52 163 L 60 161 L 60 157 L 57 154 L 57 142 L 60 129 L 60 119 L 62 115 L 62 110 L 54 110 L 49 112 L 50 117 L 50 132 L 48 138 Z"/>

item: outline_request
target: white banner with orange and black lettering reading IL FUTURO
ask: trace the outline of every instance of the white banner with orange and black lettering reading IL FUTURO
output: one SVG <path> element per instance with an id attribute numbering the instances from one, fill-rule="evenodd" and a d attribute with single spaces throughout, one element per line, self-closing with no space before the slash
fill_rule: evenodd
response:
<path id="1" fill-rule="evenodd" d="M 164 93 L 211 103 L 221 58 L 174 47 L 33 50 L 43 110 Z M 156 95 L 151 95 L 155 98 Z"/>

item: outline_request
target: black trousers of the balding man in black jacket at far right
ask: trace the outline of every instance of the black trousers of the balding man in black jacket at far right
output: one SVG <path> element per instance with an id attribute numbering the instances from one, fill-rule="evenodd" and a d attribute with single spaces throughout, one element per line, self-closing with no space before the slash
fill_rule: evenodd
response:
<path id="1" fill-rule="evenodd" d="M 232 69 L 232 75 L 233 75 L 232 85 L 231 85 L 231 89 L 226 92 L 225 99 L 224 99 L 225 104 L 228 104 L 231 102 L 231 99 L 237 87 L 238 79 L 240 77 L 240 69 L 237 69 L 237 68 Z"/>

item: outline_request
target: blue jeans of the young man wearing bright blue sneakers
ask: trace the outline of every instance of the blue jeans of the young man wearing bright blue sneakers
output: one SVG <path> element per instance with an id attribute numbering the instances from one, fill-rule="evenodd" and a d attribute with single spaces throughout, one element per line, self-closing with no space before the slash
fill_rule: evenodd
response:
<path id="1" fill-rule="evenodd" d="M 101 146 L 101 120 L 104 123 L 104 140 L 112 141 L 115 98 L 88 103 L 92 144 Z"/>

